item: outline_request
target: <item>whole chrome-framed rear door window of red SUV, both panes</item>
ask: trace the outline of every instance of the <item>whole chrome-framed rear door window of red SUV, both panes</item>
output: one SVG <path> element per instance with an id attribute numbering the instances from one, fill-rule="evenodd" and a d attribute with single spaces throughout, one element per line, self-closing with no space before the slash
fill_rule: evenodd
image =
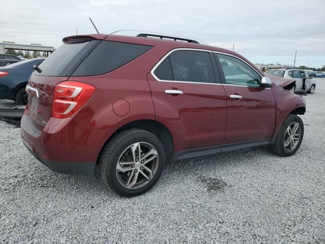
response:
<path id="1" fill-rule="evenodd" d="M 154 71 L 160 80 L 215 83 L 208 52 L 178 50 L 172 52 Z"/>

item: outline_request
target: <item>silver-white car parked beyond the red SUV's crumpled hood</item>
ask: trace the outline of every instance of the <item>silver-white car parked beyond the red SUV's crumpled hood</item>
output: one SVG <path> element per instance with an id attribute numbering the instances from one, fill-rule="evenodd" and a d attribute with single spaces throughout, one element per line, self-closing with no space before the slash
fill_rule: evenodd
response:
<path id="1" fill-rule="evenodd" d="M 295 81 L 293 92 L 307 92 L 313 94 L 316 88 L 316 80 L 307 74 L 307 72 L 298 69 L 272 69 L 267 74 L 279 77 L 289 78 Z"/>

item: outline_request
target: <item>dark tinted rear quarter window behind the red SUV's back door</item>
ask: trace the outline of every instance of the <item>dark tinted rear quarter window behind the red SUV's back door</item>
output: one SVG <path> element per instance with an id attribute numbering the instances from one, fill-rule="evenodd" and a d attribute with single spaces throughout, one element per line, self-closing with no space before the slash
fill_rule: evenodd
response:
<path id="1" fill-rule="evenodd" d="M 108 73 L 137 58 L 150 48 L 151 46 L 103 41 L 83 60 L 72 76 Z"/>

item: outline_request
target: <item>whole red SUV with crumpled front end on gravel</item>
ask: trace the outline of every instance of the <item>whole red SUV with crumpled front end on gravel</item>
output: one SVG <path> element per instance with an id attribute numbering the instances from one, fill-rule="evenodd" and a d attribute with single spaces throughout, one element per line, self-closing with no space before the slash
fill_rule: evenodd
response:
<path id="1" fill-rule="evenodd" d="M 157 36 L 64 38 L 26 87 L 30 153 L 59 173 L 89 175 L 99 164 L 122 196 L 149 190 L 168 161 L 265 144 L 296 153 L 301 96 L 236 52 Z"/>

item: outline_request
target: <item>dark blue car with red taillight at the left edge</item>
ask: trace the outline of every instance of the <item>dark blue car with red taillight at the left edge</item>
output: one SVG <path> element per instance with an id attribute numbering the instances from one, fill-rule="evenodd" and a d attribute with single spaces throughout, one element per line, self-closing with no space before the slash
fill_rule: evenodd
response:
<path id="1" fill-rule="evenodd" d="M 16 101 L 19 105 L 27 105 L 25 91 L 28 78 L 34 69 L 45 58 L 32 58 L 0 68 L 0 99 Z"/>

